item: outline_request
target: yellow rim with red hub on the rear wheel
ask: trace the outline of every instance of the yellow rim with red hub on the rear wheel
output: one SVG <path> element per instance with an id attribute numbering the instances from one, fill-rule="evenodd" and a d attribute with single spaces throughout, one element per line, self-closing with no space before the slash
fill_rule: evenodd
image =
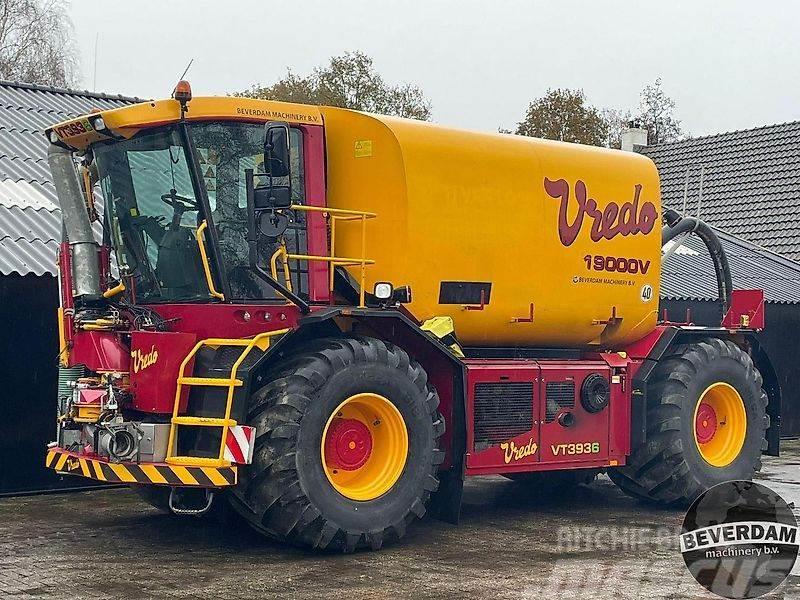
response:
<path id="1" fill-rule="evenodd" d="M 708 386 L 694 409 L 694 441 L 703 460 L 728 466 L 742 451 L 746 435 L 747 415 L 736 388 L 721 381 Z"/>

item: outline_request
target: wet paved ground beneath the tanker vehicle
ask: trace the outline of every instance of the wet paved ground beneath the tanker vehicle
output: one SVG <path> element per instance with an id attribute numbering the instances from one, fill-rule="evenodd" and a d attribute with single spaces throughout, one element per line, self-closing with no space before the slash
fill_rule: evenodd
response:
<path id="1" fill-rule="evenodd" d="M 800 443 L 761 479 L 800 506 Z M 380 552 L 312 554 L 127 489 L 0 499 L 0 598 L 715 598 L 677 550 L 682 511 L 601 477 L 569 497 L 470 480 L 462 522 L 426 519 Z M 769 598 L 800 598 L 800 561 Z"/>

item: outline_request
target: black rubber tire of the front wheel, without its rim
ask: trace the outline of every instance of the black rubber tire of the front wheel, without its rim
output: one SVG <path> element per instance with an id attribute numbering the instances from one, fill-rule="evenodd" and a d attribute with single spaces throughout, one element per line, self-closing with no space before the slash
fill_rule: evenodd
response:
<path id="1" fill-rule="evenodd" d="M 444 432 L 439 396 L 425 370 L 392 344 L 332 338 L 304 346 L 267 379 L 250 401 L 255 452 L 230 494 L 234 509 L 257 531 L 308 548 L 377 550 L 402 538 L 425 515 L 444 458 L 438 447 Z M 394 486 L 374 500 L 356 502 L 328 481 L 320 443 L 336 407 L 363 392 L 381 394 L 400 411 L 409 449 Z"/>

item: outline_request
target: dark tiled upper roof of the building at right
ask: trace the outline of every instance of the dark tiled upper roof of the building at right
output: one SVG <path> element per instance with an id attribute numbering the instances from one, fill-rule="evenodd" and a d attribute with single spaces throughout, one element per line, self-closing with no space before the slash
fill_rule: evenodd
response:
<path id="1" fill-rule="evenodd" d="M 800 260 L 800 121 L 645 147 L 658 166 L 666 206 Z"/>

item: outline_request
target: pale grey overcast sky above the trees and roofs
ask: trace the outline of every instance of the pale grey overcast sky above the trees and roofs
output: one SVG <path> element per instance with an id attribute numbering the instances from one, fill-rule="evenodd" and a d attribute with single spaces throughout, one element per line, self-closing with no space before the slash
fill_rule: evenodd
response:
<path id="1" fill-rule="evenodd" d="M 635 109 L 656 77 L 693 136 L 800 120 L 791 0 L 72 0 L 69 11 L 80 87 L 106 93 L 168 97 L 194 59 L 194 94 L 228 94 L 361 50 L 387 82 L 419 86 L 434 121 L 467 129 L 513 129 L 548 88 Z"/>

